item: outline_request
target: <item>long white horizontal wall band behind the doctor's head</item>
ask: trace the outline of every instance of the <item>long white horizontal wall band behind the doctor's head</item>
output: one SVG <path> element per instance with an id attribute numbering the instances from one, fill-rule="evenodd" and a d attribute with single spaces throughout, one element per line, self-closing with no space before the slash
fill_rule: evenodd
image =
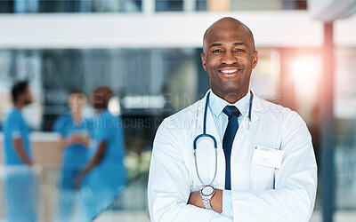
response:
<path id="1" fill-rule="evenodd" d="M 245 22 L 259 47 L 322 44 L 322 24 L 308 12 L 163 12 L 0 15 L 0 48 L 201 47 L 206 28 L 227 15 Z"/>

